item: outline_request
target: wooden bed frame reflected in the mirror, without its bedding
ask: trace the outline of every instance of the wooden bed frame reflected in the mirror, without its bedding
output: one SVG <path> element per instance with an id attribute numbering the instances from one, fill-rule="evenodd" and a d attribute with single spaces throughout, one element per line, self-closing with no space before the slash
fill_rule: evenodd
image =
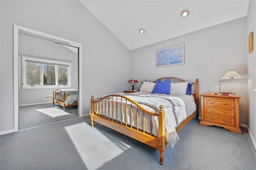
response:
<path id="1" fill-rule="evenodd" d="M 53 106 L 54 104 L 59 104 L 60 106 L 63 106 L 64 111 L 66 110 L 66 106 L 75 106 L 78 105 L 78 102 L 74 102 L 72 104 L 66 105 L 64 102 L 66 100 L 66 93 L 62 92 L 60 89 L 53 90 L 52 94 L 52 102 Z"/>

